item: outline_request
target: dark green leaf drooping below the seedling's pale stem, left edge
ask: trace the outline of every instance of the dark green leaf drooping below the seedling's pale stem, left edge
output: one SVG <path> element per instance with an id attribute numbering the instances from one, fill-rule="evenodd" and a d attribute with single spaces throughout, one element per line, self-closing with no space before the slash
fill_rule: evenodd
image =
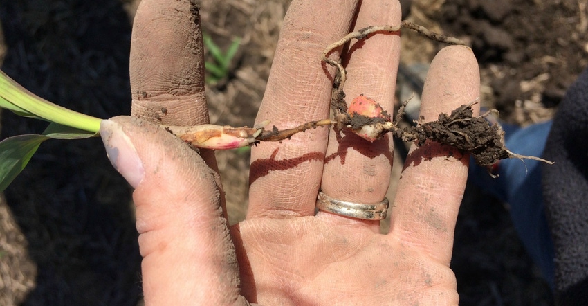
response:
<path id="1" fill-rule="evenodd" d="M 98 133 L 51 123 L 43 135 L 26 134 L 0 141 L 0 192 L 20 174 L 43 141 L 51 138 L 81 139 L 97 135 Z"/>

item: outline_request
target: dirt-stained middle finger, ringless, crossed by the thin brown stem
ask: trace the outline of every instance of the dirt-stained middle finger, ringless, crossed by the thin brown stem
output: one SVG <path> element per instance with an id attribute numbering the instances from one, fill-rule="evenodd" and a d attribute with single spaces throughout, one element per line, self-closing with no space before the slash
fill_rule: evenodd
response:
<path id="1" fill-rule="evenodd" d="M 356 0 L 291 3 L 257 123 L 270 120 L 287 129 L 329 117 L 333 69 L 320 55 L 349 32 L 356 5 Z M 314 214 L 327 134 L 318 127 L 252 148 L 248 218 Z"/>

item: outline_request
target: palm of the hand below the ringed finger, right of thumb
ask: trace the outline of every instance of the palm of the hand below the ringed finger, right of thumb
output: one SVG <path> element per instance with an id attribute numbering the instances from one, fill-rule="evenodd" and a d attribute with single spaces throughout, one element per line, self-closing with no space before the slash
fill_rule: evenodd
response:
<path id="1" fill-rule="evenodd" d="M 457 304 L 447 264 L 394 235 L 333 221 L 260 218 L 232 228 L 242 294 L 263 305 Z"/>

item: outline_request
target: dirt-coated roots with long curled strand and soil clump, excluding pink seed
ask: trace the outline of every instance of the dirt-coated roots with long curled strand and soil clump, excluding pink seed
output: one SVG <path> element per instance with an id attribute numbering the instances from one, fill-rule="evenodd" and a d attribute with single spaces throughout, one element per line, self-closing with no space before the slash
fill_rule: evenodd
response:
<path id="1" fill-rule="evenodd" d="M 369 141 L 374 141 L 376 136 L 381 137 L 381 134 L 377 134 L 378 128 L 387 129 L 387 131 L 392 132 L 393 136 L 401 138 L 403 141 L 416 141 L 417 145 L 423 145 L 427 140 L 437 141 L 438 143 L 455 147 L 462 152 L 470 153 L 478 165 L 488 169 L 500 159 L 508 158 L 534 159 L 551 163 L 535 156 L 523 156 L 509 151 L 504 145 L 504 131 L 502 127 L 496 123 L 489 125 L 484 119 L 490 114 L 497 114 L 495 109 L 490 109 L 481 116 L 473 117 L 472 106 L 478 102 L 479 98 L 468 105 L 458 107 L 450 115 L 439 115 L 439 120 L 437 121 L 423 123 L 423 118 L 421 117 L 419 120 L 416 120 L 416 127 L 405 127 L 403 129 L 398 127 L 398 123 L 410 99 L 403 102 L 392 123 L 374 123 L 365 120 L 365 118 L 360 118 L 362 120 L 358 123 L 355 118 L 351 118 L 347 114 L 347 102 L 344 101 L 345 93 L 343 91 L 345 80 L 347 80 L 347 71 L 345 71 L 340 61 L 332 60 L 327 55 L 335 48 L 347 44 L 351 39 L 365 39 L 368 35 L 376 32 L 396 33 L 401 28 L 410 28 L 437 42 L 464 45 L 459 39 L 433 33 L 427 28 L 413 24 L 410 21 L 402 21 L 398 26 L 369 26 L 362 28 L 330 44 L 323 51 L 322 60 L 336 68 L 335 82 L 333 83 L 333 98 L 331 98 L 331 108 L 336 114 L 336 118 L 338 118 L 336 128 L 341 129 L 343 126 L 350 127 L 357 133 L 360 130 L 358 125 L 369 125 L 374 127 L 374 134 L 368 137 L 360 135 Z"/>

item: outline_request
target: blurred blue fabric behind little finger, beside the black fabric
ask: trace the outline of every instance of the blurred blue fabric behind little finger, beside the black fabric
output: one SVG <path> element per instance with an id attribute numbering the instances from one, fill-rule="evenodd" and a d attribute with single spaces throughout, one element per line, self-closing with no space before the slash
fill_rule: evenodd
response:
<path id="1" fill-rule="evenodd" d="M 542 156 L 551 129 L 551 121 L 520 128 L 503 125 L 508 150 L 521 155 Z M 541 162 L 504 159 L 499 162 L 499 177 L 490 177 L 486 168 L 470 161 L 468 179 L 482 190 L 505 201 L 526 251 L 540 267 L 553 288 L 554 252 L 551 232 L 545 217 L 541 183 Z"/>

